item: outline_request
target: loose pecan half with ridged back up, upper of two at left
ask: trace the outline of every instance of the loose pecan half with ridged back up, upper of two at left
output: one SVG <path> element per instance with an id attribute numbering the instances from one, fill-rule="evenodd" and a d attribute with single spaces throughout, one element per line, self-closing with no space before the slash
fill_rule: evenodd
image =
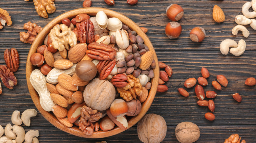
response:
<path id="1" fill-rule="evenodd" d="M 4 59 L 7 67 L 12 72 L 15 72 L 18 70 L 20 59 L 19 59 L 19 53 L 15 48 L 11 48 L 11 50 L 6 49 L 4 53 Z"/>

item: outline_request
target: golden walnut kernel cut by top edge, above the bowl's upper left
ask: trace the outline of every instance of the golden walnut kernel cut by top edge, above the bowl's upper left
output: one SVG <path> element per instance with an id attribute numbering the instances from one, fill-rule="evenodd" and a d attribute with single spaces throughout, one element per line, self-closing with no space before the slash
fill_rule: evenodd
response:
<path id="1" fill-rule="evenodd" d="M 54 0 L 33 0 L 37 14 L 43 18 L 48 18 L 47 13 L 53 13 L 56 10 L 53 1 Z"/>

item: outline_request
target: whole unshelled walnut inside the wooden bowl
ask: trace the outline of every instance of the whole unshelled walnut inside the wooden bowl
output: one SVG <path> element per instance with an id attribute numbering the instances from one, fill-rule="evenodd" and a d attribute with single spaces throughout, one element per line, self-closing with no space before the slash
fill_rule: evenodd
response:
<path id="1" fill-rule="evenodd" d="M 92 109 L 106 110 L 115 100 L 116 89 L 107 80 L 93 79 L 84 90 L 84 101 Z"/>

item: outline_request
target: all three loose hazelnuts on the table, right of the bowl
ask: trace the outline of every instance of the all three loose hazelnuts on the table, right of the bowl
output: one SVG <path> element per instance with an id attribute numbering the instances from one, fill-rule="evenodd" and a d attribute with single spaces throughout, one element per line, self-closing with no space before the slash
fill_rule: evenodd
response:
<path id="1" fill-rule="evenodd" d="M 171 4 L 169 7 L 166 8 L 166 16 L 172 21 L 169 22 L 165 27 L 165 34 L 170 39 L 176 39 L 181 34 L 181 24 L 178 23 L 183 14 L 184 10 L 181 8 L 180 5 Z M 205 31 L 202 27 L 195 27 L 191 30 L 190 39 L 194 42 L 201 42 L 205 38 Z"/>

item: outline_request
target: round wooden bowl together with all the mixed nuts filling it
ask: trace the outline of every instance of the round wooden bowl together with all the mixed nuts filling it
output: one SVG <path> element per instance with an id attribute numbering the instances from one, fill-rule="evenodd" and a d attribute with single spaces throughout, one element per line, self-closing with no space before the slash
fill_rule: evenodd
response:
<path id="1" fill-rule="evenodd" d="M 159 65 L 145 33 L 104 8 L 79 8 L 47 24 L 29 51 L 27 83 L 40 113 L 81 137 L 116 135 L 155 97 Z"/>

